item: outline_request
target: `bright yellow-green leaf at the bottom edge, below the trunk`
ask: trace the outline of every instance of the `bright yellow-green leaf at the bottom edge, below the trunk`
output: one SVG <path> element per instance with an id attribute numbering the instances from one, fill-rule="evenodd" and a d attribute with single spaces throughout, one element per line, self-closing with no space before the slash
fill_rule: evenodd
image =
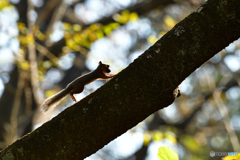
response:
<path id="1" fill-rule="evenodd" d="M 177 153 L 169 147 L 160 147 L 158 149 L 159 160 L 178 160 Z"/>

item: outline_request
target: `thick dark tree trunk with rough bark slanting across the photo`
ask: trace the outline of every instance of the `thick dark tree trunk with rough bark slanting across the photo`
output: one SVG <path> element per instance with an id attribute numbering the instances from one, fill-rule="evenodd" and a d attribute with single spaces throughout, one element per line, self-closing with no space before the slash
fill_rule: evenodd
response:
<path id="1" fill-rule="evenodd" d="M 240 1 L 209 0 L 106 85 L 0 153 L 0 159 L 84 159 L 174 101 L 173 91 L 240 37 Z"/>

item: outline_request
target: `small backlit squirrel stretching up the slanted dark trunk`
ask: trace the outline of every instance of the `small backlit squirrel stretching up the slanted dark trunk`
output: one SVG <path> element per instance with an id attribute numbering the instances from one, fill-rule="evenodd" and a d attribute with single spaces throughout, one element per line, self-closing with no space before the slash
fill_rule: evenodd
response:
<path id="1" fill-rule="evenodd" d="M 74 94 L 81 93 L 84 90 L 84 86 L 97 80 L 97 79 L 108 79 L 112 78 L 115 75 L 106 75 L 106 73 L 110 73 L 109 65 L 103 64 L 99 61 L 98 67 L 85 75 L 79 76 L 72 82 L 70 82 L 66 88 L 62 89 L 60 92 L 55 95 L 47 98 L 43 104 L 40 106 L 41 111 L 46 113 L 50 108 L 54 108 L 62 98 L 64 98 L 67 94 L 70 94 L 73 101 L 77 102 L 76 98 L 73 96 Z"/>

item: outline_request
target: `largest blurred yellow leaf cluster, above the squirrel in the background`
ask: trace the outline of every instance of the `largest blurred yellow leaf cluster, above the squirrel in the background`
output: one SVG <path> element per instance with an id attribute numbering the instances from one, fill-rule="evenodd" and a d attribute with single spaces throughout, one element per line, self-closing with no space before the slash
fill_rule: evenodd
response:
<path id="1" fill-rule="evenodd" d="M 109 23 L 107 25 L 92 24 L 86 29 L 82 30 L 82 26 L 78 24 L 64 23 L 65 40 L 67 47 L 74 51 L 85 53 L 85 48 L 90 48 L 91 43 L 96 40 L 110 35 L 111 32 L 121 26 L 120 23 L 125 24 L 128 21 L 138 20 L 137 13 L 130 13 L 128 10 L 124 10 L 121 14 L 113 16 L 116 22 Z"/>

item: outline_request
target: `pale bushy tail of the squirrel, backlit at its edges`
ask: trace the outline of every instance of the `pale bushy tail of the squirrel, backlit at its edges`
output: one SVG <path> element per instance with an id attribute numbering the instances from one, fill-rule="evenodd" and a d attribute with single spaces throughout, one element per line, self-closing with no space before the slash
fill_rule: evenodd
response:
<path id="1" fill-rule="evenodd" d="M 71 88 L 65 88 L 58 92 L 57 94 L 47 98 L 43 104 L 40 106 L 40 109 L 43 113 L 46 113 L 50 108 L 54 108 L 58 102 L 64 98 L 68 93 L 70 93 Z"/>

